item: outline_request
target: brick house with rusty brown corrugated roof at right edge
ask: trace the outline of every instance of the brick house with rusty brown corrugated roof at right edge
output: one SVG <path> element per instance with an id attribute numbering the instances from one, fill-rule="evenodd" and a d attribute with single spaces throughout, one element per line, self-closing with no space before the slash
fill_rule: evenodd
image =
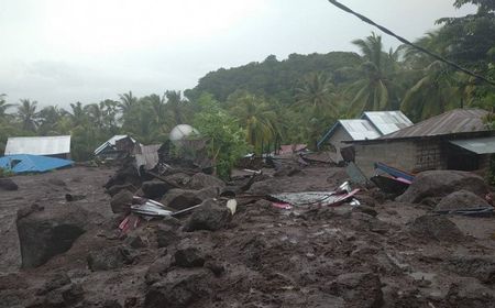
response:
<path id="1" fill-rule="evenodd" d="M 495 153 L 495 131 L 487 111 L 455 109 L 373 140 L 346 142 L 353 161 L 366 176 L 382 162 L 417 173 L 428 169 L 477 170 Z"/>

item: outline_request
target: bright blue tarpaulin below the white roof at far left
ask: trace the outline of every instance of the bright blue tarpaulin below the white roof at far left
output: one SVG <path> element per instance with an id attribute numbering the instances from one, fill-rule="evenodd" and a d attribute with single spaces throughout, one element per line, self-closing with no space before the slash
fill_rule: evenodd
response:
<path id="1" fill-rule="evenodd" d="M 73 161 L 41 155 L 16 154 L 0 157 L 0 168 L 16 174 L 44 173 L 73 165 Z"/>

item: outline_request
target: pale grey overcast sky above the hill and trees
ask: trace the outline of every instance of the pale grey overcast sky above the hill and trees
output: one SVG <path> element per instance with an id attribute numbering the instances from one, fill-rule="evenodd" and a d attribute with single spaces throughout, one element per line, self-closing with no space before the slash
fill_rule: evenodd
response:
<path id="1" fill-rule="evenodd" d="M 341 2 L 410 40 L 473 10 L 453 0 Z M 270 54 L 356 51 L 350 42 L 371 31 L 327 0 L 0 0 L 0 94 L 66 107 L 184 90 Z"/>

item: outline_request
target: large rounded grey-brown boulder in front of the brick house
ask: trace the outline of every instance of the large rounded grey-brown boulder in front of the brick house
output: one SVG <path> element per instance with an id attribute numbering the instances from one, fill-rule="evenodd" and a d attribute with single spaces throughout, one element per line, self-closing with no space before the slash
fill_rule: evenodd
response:
<path id="1" fill-rule="evenodd" d="M 429 170 L 416 176 L 397 201 L 417 204 L 426 198 L 441 198 L 458 190 L 468 190 L 484 197 L 490 187 L 481 176 L 458 170 Z"/>

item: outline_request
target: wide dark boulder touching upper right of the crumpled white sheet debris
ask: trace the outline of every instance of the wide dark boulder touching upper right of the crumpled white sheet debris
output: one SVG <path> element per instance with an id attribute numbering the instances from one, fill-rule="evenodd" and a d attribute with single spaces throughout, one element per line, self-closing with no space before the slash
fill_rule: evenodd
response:
<path id="1" fill-rule="evenodd" d="M 173 209 L 183 210 L 200 205 L 208 198 L 215 198 L 218 194 L 218 187 L 209 187 L 201 190 L 174 188 L 165 195 L 161 202 Z"/>

